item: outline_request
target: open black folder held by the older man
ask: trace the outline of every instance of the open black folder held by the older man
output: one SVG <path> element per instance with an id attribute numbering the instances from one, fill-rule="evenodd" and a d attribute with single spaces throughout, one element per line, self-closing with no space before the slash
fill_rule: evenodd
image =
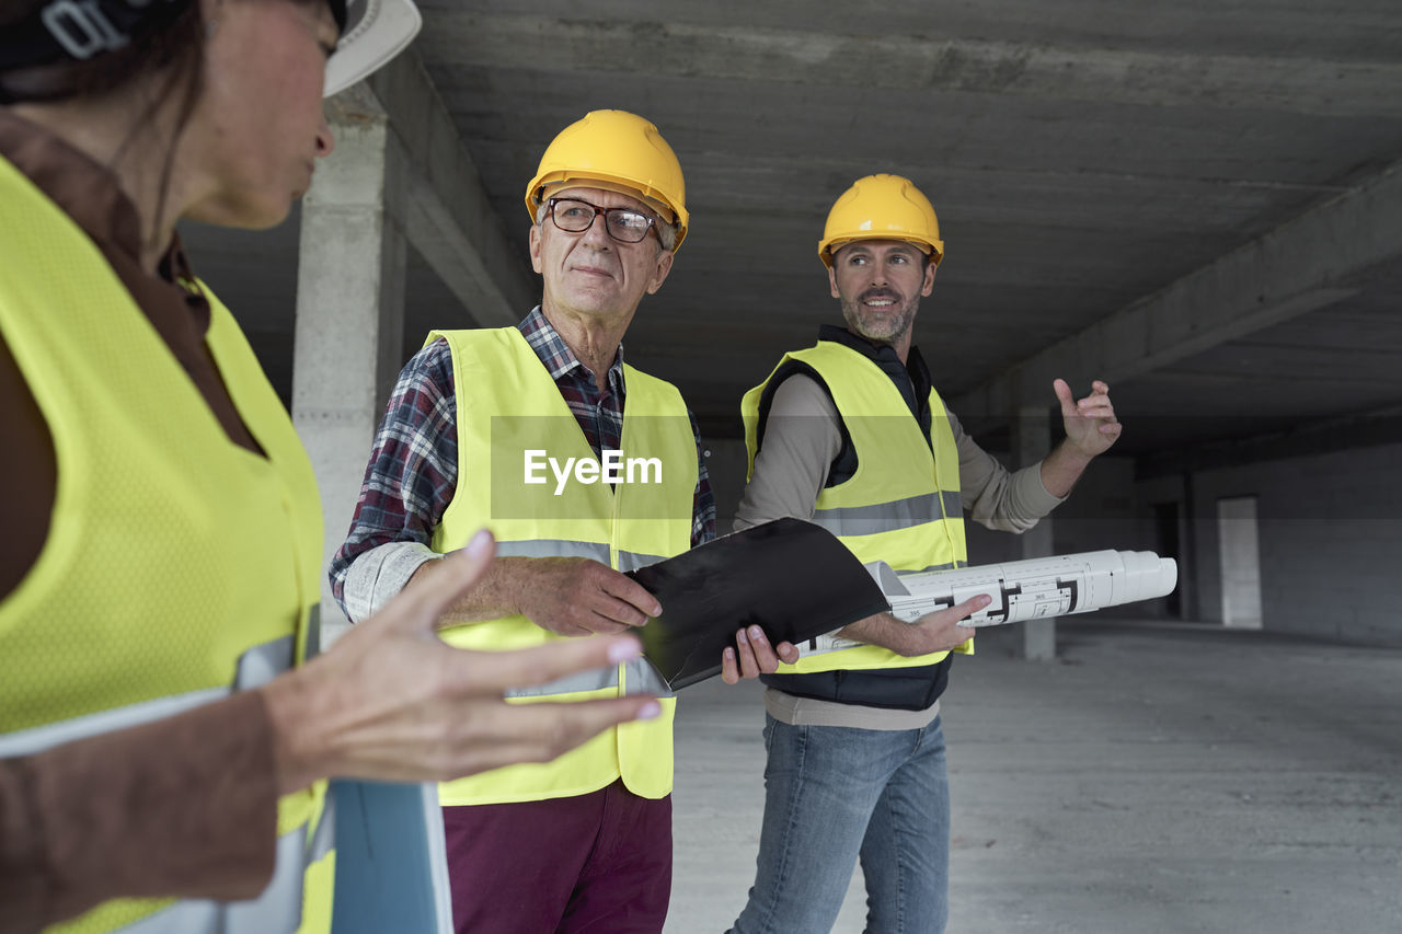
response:
<path id="1" fill-rule="evenodd" d="M 721 673 L 735 631 L 760 625 L 771 645 L 802 642 L 889 610 L 880 588 L 833 533 L 775 519 L 651 564 L 628 576 L 662 603 L 641 628 L 644 655 L 672 690 Z"/>

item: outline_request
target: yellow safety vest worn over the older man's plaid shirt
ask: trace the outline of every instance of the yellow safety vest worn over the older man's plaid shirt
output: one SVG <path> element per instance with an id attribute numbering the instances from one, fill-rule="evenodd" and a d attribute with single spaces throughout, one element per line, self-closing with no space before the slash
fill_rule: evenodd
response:
<path id="1" fill-rule="evenodd" d="M 457 401 L 458 487 L 433 532 L 433 550 L 463 547 L 482 527 L 496 536 L 499 555 L 576 555 L 631 571 L 691 547 L 697 447 L 681 394 L 669 383 L 624 366 L 627 397 L 621 450 L 629 459 L 655 459 L 660 470 L 635 471 L 635 482 L 561 488 L 551 468 L 545 482 L 526 482 L 527 452 L 564 464 L 599 464 L 579 424 L 540 358 L 515 327 L 435 331 L 453 353 Z M 578 461 L 576 461 L 578 463 Z M 660 473 L 660 477 L 656 474 Z M 652 480 L 659 482 L 651 482 Z M 639 482 L 649 480 L 649 482 Z M 557 489 L 559 494 L 557 495 Z M 524 616 L 472 623 L 443 631 L 451 645 L 481 651 L 527 648 L 561 637 Z M 440 787 L 444 805 L 543 801 L 597 791 L 615 778 L 637 795 L 672 791 L 672 719 L 676 698 L 642 659 L 587 672 L 537 689 L 513 691 L 517 703 L 590 700 L 649 693 L 662 698 L 653 721 L 606 729 L 550 763 L 505 766 Z"/>

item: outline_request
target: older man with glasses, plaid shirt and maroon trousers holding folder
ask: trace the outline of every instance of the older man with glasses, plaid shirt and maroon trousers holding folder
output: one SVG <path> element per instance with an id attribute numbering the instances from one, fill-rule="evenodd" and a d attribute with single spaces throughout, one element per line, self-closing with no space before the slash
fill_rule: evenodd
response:
<path id="1" fill-rule="evenodd" d="M 660 613 L 622 571 L 715 533 L 681 394 L 622 360 L 638 304 L 662 287 L 687 233 L 676 156 L 648 121 L 592 112 L 545 150 L 526 208 L 541 303 L 516 327 L 433 332 L 405 366 L 331 565 L 352 620 L 488 526 L 498 557 L 446 617 L 444 639 L 508 649 L 621 632 Z M 608 474 L 615 454 L 659 468 L 629 482 Z M 737 642 L 739 655 L 722 659 L 726 680 L 798 658 L 757 631 Z M 672 888 L 667 686 L 639 661 L 520 700 L 634 693 L 658 696 L 649 721 L 550 763 L 442 785 L 458 931 L 662 930 Z"/>

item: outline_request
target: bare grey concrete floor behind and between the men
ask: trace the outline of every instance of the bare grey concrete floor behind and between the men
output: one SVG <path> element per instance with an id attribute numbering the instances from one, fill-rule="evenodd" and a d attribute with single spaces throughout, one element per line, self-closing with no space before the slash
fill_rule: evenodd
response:
<path id="1" fill-rule="evenodd" d="M 744 903 L 758 694 L 683 691 L 665 934 Z M 1056 663 L 958 659 L 944 711 L 951 934 L 1402 931 L 1402 651 L 1061 621 Z M 833 930 L 864 917 L 858 871 Z"/>

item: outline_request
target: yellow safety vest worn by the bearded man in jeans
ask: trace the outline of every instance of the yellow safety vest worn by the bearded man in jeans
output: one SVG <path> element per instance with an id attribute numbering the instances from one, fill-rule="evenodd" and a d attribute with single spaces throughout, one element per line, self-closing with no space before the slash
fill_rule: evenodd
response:
<path id="1" fill-rule="evenodd" d="M 787 353 L 770 376 L 744 394 L 744 445 L 749 473 L 760 449 L 760 402 L 764 388 L 791 362 L 810 367 L 833 402 L 857 450 L 857 473 L 817 495 L 812 522 L 823 526 L 862 564 L 885 561 L 894 571 L 934 571 L 969 562 L 963 506 L 959 499 L 959 449 L 939 394 L 930 390 L 930 438 L 911 415 L 900 390 L 879 366 L 833 341 Z M 958 652 L 973 652 L 973 639 Z M 780 675 L 837 669 L 916 668 L 949 652 L 903 656 L 879 645 L 805 652 Z"/>

